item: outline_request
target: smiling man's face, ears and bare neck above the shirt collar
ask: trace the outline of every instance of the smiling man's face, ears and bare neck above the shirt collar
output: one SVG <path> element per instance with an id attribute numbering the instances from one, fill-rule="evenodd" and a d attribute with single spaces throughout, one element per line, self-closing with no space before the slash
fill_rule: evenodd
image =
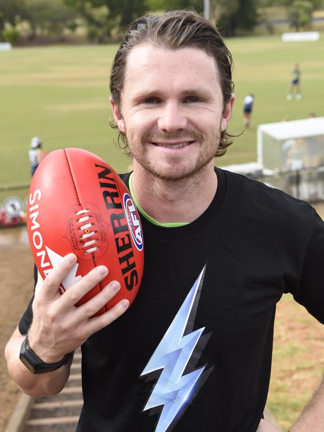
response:
<path id="1" fill-rule="evenodd" d="M 142 43 L 128 55 L 118 99 L 111 104 L 133 156 L 138 202 L 159 222 L 192 222 L 215 195 L 213 157 L 234 103 L 232 94 L 223 101 L 214 58 L 194 46 Z"/>

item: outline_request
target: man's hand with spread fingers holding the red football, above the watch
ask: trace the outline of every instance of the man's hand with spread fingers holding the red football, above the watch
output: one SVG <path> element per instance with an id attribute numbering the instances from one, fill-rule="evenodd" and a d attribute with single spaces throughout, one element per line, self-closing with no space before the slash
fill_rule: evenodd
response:
<path id="1" fill-rule="evenodd" d="M 107 275 L 105 266 L 98 266 L 68 288 L 62 295 L 61 281 L 76 263 L 76 256 L 68 254 L 35 291 L 32 305 L 33 321 L 29 330 L 31 349 L 45 363 L 55 363 L 76 350 L 93 333 L 118 318 L 129 306 L 121 300 L 100 316 L 89 319 L 119 290 L 117 281 L 110 282 L 97 295 L 79 307 L 75 303 Z"/>

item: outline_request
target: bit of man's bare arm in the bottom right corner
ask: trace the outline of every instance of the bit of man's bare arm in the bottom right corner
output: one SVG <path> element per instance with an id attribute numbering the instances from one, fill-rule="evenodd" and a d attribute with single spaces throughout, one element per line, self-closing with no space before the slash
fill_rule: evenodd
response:
<path id="1" fill-rule="evenodd" d="M 323 432 L 324 430 L 324 377 L 318 390 L 304 408 L 290 432 Z"/>

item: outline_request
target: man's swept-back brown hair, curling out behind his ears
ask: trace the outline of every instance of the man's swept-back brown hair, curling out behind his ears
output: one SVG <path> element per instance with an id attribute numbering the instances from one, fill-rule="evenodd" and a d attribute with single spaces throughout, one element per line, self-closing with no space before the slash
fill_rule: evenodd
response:
<path id="1" fill-rule="evenodd" d="M 218 29 L 208 19 L 192 10 L 173 10 L 161 16 L 142 16 L 129 25 L 113 61 L 110 76 L 111 97 L 119 109 L 128 54 L 134 46 L 146 42 L 166 49 L 198 47 L 213 57 L 218 69 L 225 109 L 234 90 L 232 56 Z M 117 128 L 114 122 L 111 122 L 111 126 Z M 232 144 L 230 137 L 232 135 L 226 131 L 221 133 L 215 156 L 222 156 L 225 153 L 226 148 Z M 119 132 L 118 144 L 123 149 L 128 147 L 125 134 L 122 132 Z"/>

